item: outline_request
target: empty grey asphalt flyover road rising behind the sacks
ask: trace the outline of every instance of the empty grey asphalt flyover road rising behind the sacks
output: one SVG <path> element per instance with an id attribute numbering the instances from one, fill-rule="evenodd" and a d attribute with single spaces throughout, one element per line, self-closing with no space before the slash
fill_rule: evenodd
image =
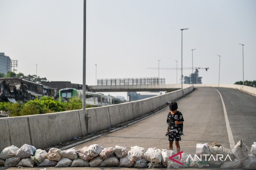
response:
<path id="1" fill-rule="evenodd" d="M 252 143 L 256 141 L 255 96 L 228 88 L 196 88 L 193 93 L 177 102 L 178 110 L 184 117 L 184 136 L 180 146 L 185 153 L 195 154 L 196 143 L 219 142 L 222 146 L 230 148 L 223 104 L 216 89 L 223 97 L 234 142 L 237 143 L 242 139 L 250 150 Z M 169 108 L 166 108 L 136 124 L 102 135 L 76 148 L 99 144 L 103 147 L 119 145 L 128 149 L 135 145 L 146 149 L 149 147 L 168 149 L 169 141 L 165 136 L 168 112 Z"/>

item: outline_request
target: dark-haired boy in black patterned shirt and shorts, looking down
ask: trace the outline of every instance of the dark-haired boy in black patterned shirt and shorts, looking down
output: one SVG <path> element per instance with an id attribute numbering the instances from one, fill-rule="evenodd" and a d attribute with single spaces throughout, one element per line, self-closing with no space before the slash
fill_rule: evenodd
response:
<path id="1" fill-rule="evenodd" d="M 169 138 L 169 149 L 173 150 L 173 141 L 175 140 L 177 153 L 180 152 L 181 135 L 183 135 L 183 116 L 180 111 L 178 111 L 178 104 L 176 102 L 171 102 L 169 104 L 170 111 L 167 116 L 167 132 Z"/>

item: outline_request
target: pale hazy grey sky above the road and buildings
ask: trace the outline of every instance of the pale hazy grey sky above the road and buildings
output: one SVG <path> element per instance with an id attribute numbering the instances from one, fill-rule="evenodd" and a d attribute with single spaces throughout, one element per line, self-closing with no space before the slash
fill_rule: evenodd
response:
<path id="1" fill-rule="evenodd" d="M 97 78 L 158 77 L 147 67 L 209 67 L 203 84 L 256 80 L 255 0 L 87 0 L 86 84 Z M 18 72 L 82 84 L 83 0 L 0 0 L 0 52 Z M 188 76 L 191 69 L 183 70 Z M 178 71 L 178 79 L 181 71 Z M 166 84 L 176 70 L 160 70 Z M 125 94 L 125 93 L 119 93 Z"/>

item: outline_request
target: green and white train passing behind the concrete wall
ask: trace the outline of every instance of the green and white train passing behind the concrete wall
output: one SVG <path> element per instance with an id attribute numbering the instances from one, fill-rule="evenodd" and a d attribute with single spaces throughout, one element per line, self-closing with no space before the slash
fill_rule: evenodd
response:
<path id="1" fill-rule="evenodd" d="M 68 101 L 69 98 L 76 97 L 83 99 L 83 91 L 73 88 L 65 88 L 59 90 L 59 101 Z M 126 102 L 124 99 L 115 98 L 113 96 L 106 96 L 101 93 L 94 93 L 91 91 L 86 91 L 86 104 L 94 106 L 106 106 L 112 104 L 120 104 Z"/>

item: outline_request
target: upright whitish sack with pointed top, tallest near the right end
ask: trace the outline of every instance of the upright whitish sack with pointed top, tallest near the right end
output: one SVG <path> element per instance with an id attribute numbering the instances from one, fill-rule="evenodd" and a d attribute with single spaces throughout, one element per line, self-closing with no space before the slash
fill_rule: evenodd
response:
<path id="1" fill-rule="evenodd" d="M 248 156 L 247 146 L 240 140 L 237 142 L 236 146 L 231 150 L 234 154 L 234 157 L 238 160 L 244 161 Z"/>

